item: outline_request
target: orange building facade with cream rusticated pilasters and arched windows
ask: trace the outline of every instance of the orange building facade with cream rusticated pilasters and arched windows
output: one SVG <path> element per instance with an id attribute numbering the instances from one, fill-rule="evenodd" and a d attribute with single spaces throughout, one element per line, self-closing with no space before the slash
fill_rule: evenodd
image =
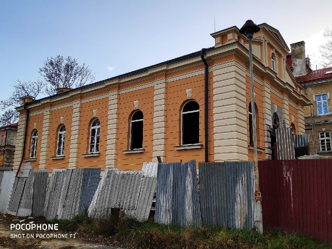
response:
<path id="1" fill-rule="evenodd" d="M 253 39 L 253 63 L 258 158 L 263 160 L 273 154 L 273 122 L 304 133 L 303 105 L 308 100 L 286 63 L 289 48 L 279 31 L 267 24 L 259 26 L 261 31 Z M 208 161 L 253 160 L 248 42 L 235 26 L 211 36 L 215 45 L 205 51 Z M 193 107 L 186 105 L 190 101 L 195 102 L 190 104 Z M 204 162 L 204 101 L 201 51 L 40 100 L 25 97 L 17 108 L 14 169 L 22 159 L 25 103 L 29 118 L 23 165 L 30 162 L 32 168 L 51 171 L 79 167 L 140 170 L 143 161 L 157 161 L 157 156 L 164 162 Z M 187 114 L 193 118 L 192 125 L 183 118 Z M 142 143 L 137 143 L 140 133 L 134 132 L 141 124 Z M 184 138 L 187 127 L 192 130 Z"/>

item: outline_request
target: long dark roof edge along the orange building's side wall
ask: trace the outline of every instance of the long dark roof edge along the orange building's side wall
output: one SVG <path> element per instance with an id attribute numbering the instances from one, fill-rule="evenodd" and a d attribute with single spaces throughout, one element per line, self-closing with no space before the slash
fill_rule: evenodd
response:
<path id="1" fill-rule="evenodd" d="M 214 46 L 209 47 L 205 51 L 213 49 L 213 48 L 214 48 Z M 34 100 L 34 101 L 31 101 L 31 102 L 28 102 L 27 105 L 38 103 L 41 100 L 48 99 L 48 98 L 54 99 L 54 98 L 57 98 L 57 97 L 60 97 L 60 96 L 64 96 L 64 95 L 67 95 L 70 92 L 73 92 L 73 91 L 77 90 L 77 89 L 88 89 L 88 88 L 91 88 L 91 87 L 94 87 L 94 86 L 98 86 L 98 85 L 101 85 L 102 83 L 104 83 L 105 81 L 108 81 L 108 80 L 111 80 L 111 79 L 116 79 L 116 78 L 121 79 L 121 78 L 125 78 L 125 77 L 132 76 L 132 75 L 135 75 L 135 74 L 140 74 L 140 73 L 143 73 L 143 72 L 147 72 L 148 69 L 153 68 L 155 66 L 159 66 L 159 65 L 162 65 L 162 64 L 171 65 L 171 64 L 174 64 L 174 63 L 177 63 L 177 62 L 180 62 L 180 61 L 184 61 L 184 60 L 187 60 L 187 59 L 195 58 L 195 57 L 198 57 L 198 56 L 201 56 L 201 50 L 190 53 L 190 54 L 186 54 L 186 55 L 174 58 L 174 59 L 166 60 L 166 61 L 154 64 L 154 65 L 151 65 L 151 66 L 147 66 L 147 67 L 144 67 L 144 68 L 141 68 L 141 69 L 137 69 L 137 70 L 134 70 L 134 71 L 131 71 L 131 72 L 128 72 L 128 73 L 120 74 L 118 76 L 114 76 L 114 77 L 111 77 L 111 78 L 108 78 L 108 79 L 105 79 L 105 80 L 97 81 L 97 82 L 91 83 L 89 85 L 77 87 L 77 88 L 62 92 L 62 93 L 58 93 L 58 94 L 47 96 L 47 97 L 44 97 L 44 98 L 41 98 L 41 99 L 38 99 L 38 100 Z"/>

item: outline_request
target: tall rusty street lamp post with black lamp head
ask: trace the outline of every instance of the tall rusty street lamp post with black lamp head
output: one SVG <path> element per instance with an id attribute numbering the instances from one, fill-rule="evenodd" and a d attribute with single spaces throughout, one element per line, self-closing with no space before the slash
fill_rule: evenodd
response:
<path id="1" fill-rule="evenodd" d="M 254 141 L 254 174 L 255 174 L 255 194 L 254 194 L 254 210 L 255 210 L 255 227 L 257 231 L 263 233 L 262 222 L 262 206 L 261 206 L 261 192 L 259 190 L 259 173 L 257 163 L 257 138 L 256 138 L 256 112 L 255 112 L 255 93 L 254 93 L 254 73 L 252 63 L 252 45 L 251 39 L 253 35 L 257 33 L 260 28 L 254 24 L 253 21 L 247 20 L 243 27 L 240 29 L 240 33 L 245 35 L 249 40 L 249 67 L 250 67 L 250 88 L 251 88 L 251 111 L 252 111 L 252 129 L 253 129 L 253 141 Z"/>

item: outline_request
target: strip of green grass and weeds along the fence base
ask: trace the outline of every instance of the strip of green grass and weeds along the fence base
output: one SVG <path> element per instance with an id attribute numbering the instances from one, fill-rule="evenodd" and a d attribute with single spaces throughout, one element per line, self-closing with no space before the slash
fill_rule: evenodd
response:
<path id="1" fill-rule="evenodd" d="M 92 219 L 86 214 L 72 220 L 53 219 L 59 228 L 85 234 L 105 235 L 110 240 L 130 243 L 141 248 L 201 249 L 201 248 L 331 248 L 332 245 L 318 242 L 295 233 L 237 230 L 220 226 L 179 227 L 156 224 L 153 219 L 139 222 L 126 217 L 122 211 L 102 219 Z"/>

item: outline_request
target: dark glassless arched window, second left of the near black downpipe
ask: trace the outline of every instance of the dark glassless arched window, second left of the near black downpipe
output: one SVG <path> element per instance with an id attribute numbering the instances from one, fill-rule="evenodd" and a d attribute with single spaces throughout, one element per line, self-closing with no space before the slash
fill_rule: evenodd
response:
<path id="1" fill-rule="evenodd" d="M 130 150 L 143 148 L 143 113 L 136 111 L 130 120 Z"/>

